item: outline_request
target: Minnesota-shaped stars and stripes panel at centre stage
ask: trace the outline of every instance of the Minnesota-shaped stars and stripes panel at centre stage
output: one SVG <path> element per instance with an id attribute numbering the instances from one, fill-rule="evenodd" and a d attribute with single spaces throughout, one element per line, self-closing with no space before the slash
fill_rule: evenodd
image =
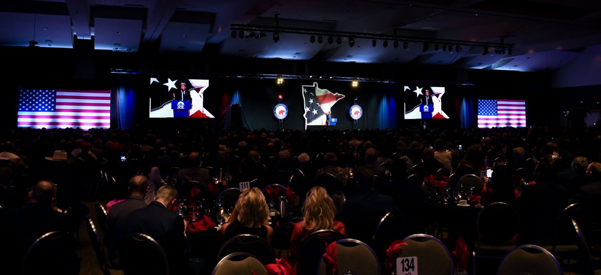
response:
<path id="1" fill-rule="evenodd" d="M 324 125 L 328 113 L 338 100 L 344 98 L 343 94 L 332 93 L 328 89 L 320 89 L 317 82 L 313 85 L 302 86 L 302 97 L 305 101 L 305 129 L 307 125 Z M 334 114 L 332 114 L 334 115 Z"/>

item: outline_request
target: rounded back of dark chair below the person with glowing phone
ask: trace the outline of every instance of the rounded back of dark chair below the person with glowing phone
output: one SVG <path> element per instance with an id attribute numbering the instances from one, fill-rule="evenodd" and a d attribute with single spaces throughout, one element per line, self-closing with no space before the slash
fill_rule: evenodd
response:
<path id="1" fill-rule="evenodd" d="M 492 246 L 514 244 L 520 231 L 520 217 L 511 205 L 493 202 L 478 213 L 476 229 L 480 243 Z"/>

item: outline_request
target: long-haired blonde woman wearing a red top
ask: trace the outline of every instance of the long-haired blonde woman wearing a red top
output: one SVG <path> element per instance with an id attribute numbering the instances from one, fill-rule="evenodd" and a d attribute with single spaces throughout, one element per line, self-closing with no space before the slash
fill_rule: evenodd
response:
<path id="1" fill-rule="evenodd" d="M 326 189 L 315 186 L 307 192 L 307 198 L 302 207 L 303 220 L 296 223 L 290 237 L 288 261 L 296 264 L 299 246 L 302 240 L 313 232 L 322 229 L 332 229 L 346 236 L 344 224 L 334 220 L 336 207 Z"/>

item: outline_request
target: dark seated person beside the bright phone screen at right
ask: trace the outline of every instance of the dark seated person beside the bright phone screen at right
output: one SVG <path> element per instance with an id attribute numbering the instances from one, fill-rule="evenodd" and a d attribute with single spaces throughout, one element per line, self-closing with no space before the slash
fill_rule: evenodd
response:
<path id="1" fill-rule="evenodd" d="M 497 165 L 492 172 L 492 178 L 484 177 L 480 204 L 489 205 L 493 202 L 505 202 L 515 205 L 519 192 L 514 187 L 513 177 L 504 165 Z"/>

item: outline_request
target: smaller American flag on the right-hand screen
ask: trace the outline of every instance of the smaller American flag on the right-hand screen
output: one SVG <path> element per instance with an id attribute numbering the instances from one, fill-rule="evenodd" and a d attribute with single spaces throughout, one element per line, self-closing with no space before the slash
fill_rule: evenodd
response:
<path id="1" fill-rule="evenodd" d="M 478 128 L 526 127 L 526 101 L 478 99 Z"/>

